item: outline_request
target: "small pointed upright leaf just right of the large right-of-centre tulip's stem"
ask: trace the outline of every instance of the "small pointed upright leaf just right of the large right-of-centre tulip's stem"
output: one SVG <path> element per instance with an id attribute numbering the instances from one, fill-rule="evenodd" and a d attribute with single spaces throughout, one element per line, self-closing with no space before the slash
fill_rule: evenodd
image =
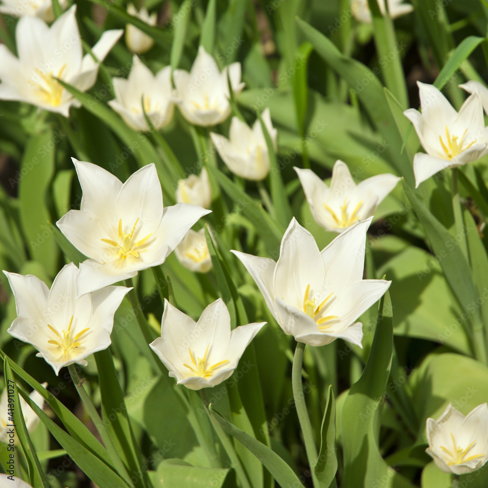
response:
<path id="1" fill-rule="evenodd" d="M 318 488 L 328 488 L 335 479 L 335 473 L 337 471 L 335 415 L 334 393 L 332 392 L 332 386 L 329 386 L 320 431 L 319 457 L 315 466 L 312 467 L 315 471 L 315 477 L 319 481 Z"/>

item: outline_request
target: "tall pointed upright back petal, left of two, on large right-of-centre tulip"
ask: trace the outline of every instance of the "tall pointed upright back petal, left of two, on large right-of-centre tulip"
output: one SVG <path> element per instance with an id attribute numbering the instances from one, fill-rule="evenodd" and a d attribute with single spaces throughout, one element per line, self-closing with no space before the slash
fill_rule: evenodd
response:
<path id="1" fill-rule="evenodd" d="M 283 236 L 276 263 L 275 296 L 283 298 L 288 305 L 303 308 L 307 285 L 310 285 L 310 298 L 318 299 L 324 278 L 324 263 L 315 239 L 293 218 Z"/>

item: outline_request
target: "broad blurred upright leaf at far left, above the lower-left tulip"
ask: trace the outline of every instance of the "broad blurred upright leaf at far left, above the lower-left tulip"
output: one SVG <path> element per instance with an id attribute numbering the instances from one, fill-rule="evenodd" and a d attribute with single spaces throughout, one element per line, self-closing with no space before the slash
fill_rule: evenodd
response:
<path id="1" fill-rule="evenodd" d="M 19 213 L 29 253 L 50 276 L 57 270 L 59 251 L 53 237 L 46 198 L 54 175 L 55 135 L 52 130 L 32 136 L 20 164 Z"/>

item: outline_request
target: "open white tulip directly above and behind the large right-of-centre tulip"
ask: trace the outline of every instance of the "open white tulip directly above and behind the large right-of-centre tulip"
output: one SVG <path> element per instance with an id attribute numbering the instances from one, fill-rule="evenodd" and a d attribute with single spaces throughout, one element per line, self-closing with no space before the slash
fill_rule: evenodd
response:
<path id="1" fill-rule="evenodd" d="M 401 180 L 386 173 L 356 184 L 347 164 L 339 160 L 332 169 L 329 188 L 311 169 L 294 169 L 315 222 L 338 233 L 372 217 L 379 203 Z"/>

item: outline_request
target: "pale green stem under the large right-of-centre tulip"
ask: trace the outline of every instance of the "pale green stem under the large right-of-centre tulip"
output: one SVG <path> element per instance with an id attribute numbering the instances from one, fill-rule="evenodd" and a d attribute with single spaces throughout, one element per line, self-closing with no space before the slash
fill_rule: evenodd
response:
<path id="1" fill-rule="evenodd" d="M 310 471 L 312 474 L 312 481 L 314 487 L 319 487 L 319 481 L 316 479 L 313 466 L 317 462 L 318 454 L 315 446 L 315 439 L 313 437 L 312 424 L 306 409 L 305 395 L 302 385 L 302 365 L 304 360 L 305 344 L 303 342 L 297 343 L 295 349 L 295 356 L 293 358 L 293 367 L 291 369 L 291 384 L 293 387 L 293 398 L 295 399 L 295 407 L 297 409 L 298 420 L 304 437 L 306 456 Z"/>

